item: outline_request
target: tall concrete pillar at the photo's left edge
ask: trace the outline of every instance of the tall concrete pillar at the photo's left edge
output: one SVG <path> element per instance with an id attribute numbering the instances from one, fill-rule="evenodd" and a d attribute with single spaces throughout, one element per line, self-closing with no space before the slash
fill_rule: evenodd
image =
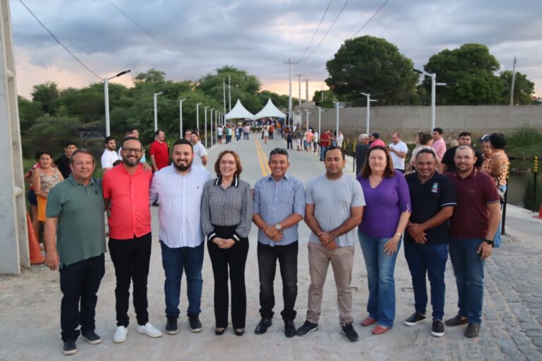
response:
<path id="1" fill-rule="evenodd" d="M 9 1 L 0 0 L 0 274 L 30 267 Z"/>

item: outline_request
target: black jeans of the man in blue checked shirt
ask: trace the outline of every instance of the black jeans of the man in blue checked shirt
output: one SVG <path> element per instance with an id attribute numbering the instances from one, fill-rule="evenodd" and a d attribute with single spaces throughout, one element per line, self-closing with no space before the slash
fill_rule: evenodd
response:
<path id="1" fill-rule="evenodd" d="M 282 298 L 284 310 L 280 312 L 284 321 L 296 318 L 297 298 L 297 252 L 298 242 L 289 245 L 263 245 L 258 242 L 258 270 L 260 272 L 260 315 L 272 318 L 275 307 L 275 293 L 273 283 L 279 261 L 280 276 L 282 277 Z"/>

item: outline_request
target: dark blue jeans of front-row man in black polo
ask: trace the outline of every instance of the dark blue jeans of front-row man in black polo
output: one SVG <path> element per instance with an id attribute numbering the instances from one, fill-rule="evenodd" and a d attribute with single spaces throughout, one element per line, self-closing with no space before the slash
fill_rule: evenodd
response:
<path id="1" fill-rule="evenodd" d="M 446 284 L 444 271 L 448 260 L 448 245 L 420 245 L 414 242 L 404 243 L 404 257 L 409 264 L 414 288 L 414 307 L 419 314 L 426 314 L 427 283 L 426 274 L 431 285 L 431 306 L 433 319 L 444 317 L 444 295 Z"/>

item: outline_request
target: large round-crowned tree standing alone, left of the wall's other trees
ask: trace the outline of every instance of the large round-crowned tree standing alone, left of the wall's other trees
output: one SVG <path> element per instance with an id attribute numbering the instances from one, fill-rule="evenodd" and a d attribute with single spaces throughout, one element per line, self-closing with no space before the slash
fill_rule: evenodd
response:
<path id="1" fill-rule="evenodd" d="M 394 44 L 366 35 L 348 39 L 327 61 L 325 82 L 339 100 L 354 106 L 366 104 L 361 92 L 379 94 L 387 104 L 409 104 L 417 80 L 412 66 Z"/>

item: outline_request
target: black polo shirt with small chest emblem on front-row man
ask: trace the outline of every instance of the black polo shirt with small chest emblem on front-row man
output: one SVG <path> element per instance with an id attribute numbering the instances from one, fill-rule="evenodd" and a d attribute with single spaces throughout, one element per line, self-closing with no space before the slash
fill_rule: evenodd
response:
<path id="1" fill-rule="evenodd" d="M 433 178 L 421 182 L 416 173 L 404 177 L 409 185 L 412 213 L 409 221 L 421 224 L 433 218 L 443 207 L 455 207 L 454 183 L 436 172 Z M 438 245 L 448 242 L 448 221 L 426 230 L 428 244 Z M 409 233 L 404 234 L 406 242 L 415 242 Z"/>

